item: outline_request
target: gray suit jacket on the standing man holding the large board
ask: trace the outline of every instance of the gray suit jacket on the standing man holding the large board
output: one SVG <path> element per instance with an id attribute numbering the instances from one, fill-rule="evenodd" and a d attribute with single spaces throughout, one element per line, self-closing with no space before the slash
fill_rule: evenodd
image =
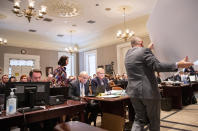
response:
<path id="1" fill-rule="evenodd" d="M 127 94 L 132 98 L 160 99 L 156 72 L 177 71 L 176 63 L 160 63 L 150 49 L 134 47 L 125 57 Z"/>

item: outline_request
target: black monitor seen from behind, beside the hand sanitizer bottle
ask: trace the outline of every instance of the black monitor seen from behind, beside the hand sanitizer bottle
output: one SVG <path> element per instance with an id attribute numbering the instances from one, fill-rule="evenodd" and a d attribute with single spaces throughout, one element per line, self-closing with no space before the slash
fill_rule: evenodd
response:
<path id="1" fill-rule="evenodd" d="M 10 82 L 6 84 L 5 94 L 9 96 L 10 88 L 16 88 L 17 105 L 19 108 L 48 105 L 49 82 Z M 31 110 L 31 109 L 30 109 Z"/>

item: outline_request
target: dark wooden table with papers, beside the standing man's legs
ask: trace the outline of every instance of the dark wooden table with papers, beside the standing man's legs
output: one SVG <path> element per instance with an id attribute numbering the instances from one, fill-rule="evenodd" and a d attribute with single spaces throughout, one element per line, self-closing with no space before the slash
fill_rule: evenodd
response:
<path id="1" fill-rule="evenodd" d="M 129 107 L 129 119 L 133 121 L 134 110 L 129 96 L 120 96 L 116 98 L 103 97 L 84 97 L 86 100 L 99 101 L 103 116 L 101 127 L 111 131 L 121 131 L 124 128 L 126 106 Z M 116 122 L 117 121 L 117 122 Z"/>

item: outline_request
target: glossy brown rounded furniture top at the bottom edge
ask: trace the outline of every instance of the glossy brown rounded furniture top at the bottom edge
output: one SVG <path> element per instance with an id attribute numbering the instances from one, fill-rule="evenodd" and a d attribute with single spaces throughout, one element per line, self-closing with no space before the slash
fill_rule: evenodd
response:
<path id="1" fill-rule="evenodd" d="M 79 121 L 69 121 L 55 126 L 54 131 L 107 131 Z"/>

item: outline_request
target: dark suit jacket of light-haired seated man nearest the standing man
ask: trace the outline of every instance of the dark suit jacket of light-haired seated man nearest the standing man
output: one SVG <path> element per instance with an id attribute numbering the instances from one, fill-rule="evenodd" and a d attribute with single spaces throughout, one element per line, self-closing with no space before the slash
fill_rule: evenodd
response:
<path id="1" fill-rule="evenodd" d="M 108 80 L 106 78 L 102 79 L 103 83 L 104 83 L 104 87 L 105 89 L 108 91 L 110 90 L 109 84 L 108 84 Z M 92 93 L 96 94 L 96 89 L 98 86 L 101 86 L 101 81 L 98 77 L 95 77 L 94 79 L 92 79 L 91 81 L 91 89 L 92 89 Z"/>

